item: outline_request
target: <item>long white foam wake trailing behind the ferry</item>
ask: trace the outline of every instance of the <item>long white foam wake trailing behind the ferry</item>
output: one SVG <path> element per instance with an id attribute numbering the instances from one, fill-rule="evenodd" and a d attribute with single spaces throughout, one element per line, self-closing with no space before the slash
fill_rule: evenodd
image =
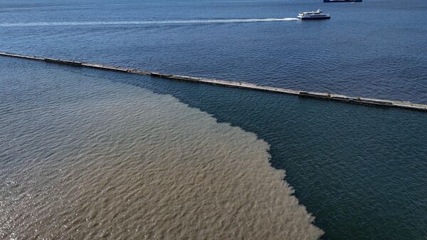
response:
<path id="1" fill-rule="evenodd" d="M 149 25 L 149 24 L 230 24 L 230 23 L 255 23 L 255 22 L 295 21 L 295 20 L 298 20 L 298 19 L 283 18 L 283 19 L 207 19 L 207 20 L 165 20 L 165 21 L 64 21 L 64 22 L 4 23 L 4 24 L 0 24 L 0 27 Z"/>

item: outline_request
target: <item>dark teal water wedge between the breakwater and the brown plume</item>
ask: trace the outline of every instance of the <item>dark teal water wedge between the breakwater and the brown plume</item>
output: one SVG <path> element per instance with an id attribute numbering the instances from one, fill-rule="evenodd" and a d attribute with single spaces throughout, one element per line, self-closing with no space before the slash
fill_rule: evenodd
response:
<path id="1" fill-rule="evenodd" d="M 322 239 L 425 239 L 427 114 L 66 67 L 173 95 L 270 144 Z"/>

